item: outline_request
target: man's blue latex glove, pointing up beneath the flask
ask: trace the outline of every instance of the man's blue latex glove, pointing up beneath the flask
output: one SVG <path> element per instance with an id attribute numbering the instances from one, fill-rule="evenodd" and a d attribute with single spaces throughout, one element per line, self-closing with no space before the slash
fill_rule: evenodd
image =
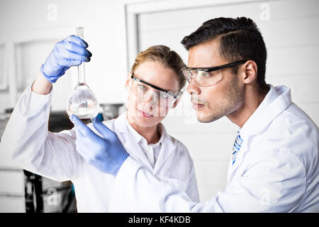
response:
<path id="1" fill-rule="evenodd" d="M 99 118 L 93 118 L 92 123 L 103 138 L 91 131 L 77 116 L 70 116 L 70 120 L 77 134 L 77 151 L 84 160 L 101 172 L 116 176 L 129 156 L 116 133 L 101 123 Z"/>

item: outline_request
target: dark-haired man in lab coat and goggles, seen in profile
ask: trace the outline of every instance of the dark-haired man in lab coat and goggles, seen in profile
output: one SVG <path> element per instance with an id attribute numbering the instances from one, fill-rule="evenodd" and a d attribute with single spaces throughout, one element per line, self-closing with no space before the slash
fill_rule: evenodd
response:
<path id="1" fill-rule="evenodd" d="M 293 104 L 289 88 L 265 82 L 267 50 L 254 21 L 214 18 L 181 43 L 198 121 L 226 116 L 239 126 L 225 191 L 191 201 L 130 157 L 106 126 L 101 138 L 71 116 L 79 153 L 116 176 L 110 211 L 319 212 L 318 126 Z"/>

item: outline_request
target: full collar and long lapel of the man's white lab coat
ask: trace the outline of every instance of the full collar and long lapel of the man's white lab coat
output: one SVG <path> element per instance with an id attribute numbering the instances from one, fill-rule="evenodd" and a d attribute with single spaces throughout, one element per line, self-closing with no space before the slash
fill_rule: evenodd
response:
<path id="1" fill-rule="evenodd" d="M 278 116 L 282 111 L 284 111 L 291 104 L 291 93 L 290 89 L 285 86 L 273 87 L 270 85 L 269 97 L 265 97 L 265 101 L 269 104 L 259 106 L 257 110 L 248 119 L 245 125 L 242 127 L 242 133 L 240 135 L 243 138 L 242 147 L 237 154 L 236 161 L 234 165 L 231 164 L 228 167 L 228 184 L 231 182 L 236 172 L 240 168 L 247 151 L 249 151 L 250 140 L 253 135 L 256 135 L 264 128 L 266 128 L 269 123 L 271 123 L 276 116 Z M 269 98 L 270 100 L 266 100 Z M 265 138 L 267 139 L 267 138 Z M 253 152 L 253 151 L 252 151 Z"/>

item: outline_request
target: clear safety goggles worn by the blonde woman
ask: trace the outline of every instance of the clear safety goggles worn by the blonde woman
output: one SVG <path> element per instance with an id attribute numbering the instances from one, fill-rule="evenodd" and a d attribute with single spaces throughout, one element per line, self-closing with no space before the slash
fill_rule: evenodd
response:
<path id="1" fill-rule="evenodd" d="M 152 96 L 152 102 L 158 106 L 171 108 L 174 101 L 176 101 L 182 94 L 181 91 L 170 92 L 153 84 L 147 83 L 142 79 L 138 79 L 135 77 L 133 72 L 131 72 L 130 78 L 133 79 L 132 89 L 134 94 L 138 96 L 139 101 L 148 100 L 150 96 Z"/>

